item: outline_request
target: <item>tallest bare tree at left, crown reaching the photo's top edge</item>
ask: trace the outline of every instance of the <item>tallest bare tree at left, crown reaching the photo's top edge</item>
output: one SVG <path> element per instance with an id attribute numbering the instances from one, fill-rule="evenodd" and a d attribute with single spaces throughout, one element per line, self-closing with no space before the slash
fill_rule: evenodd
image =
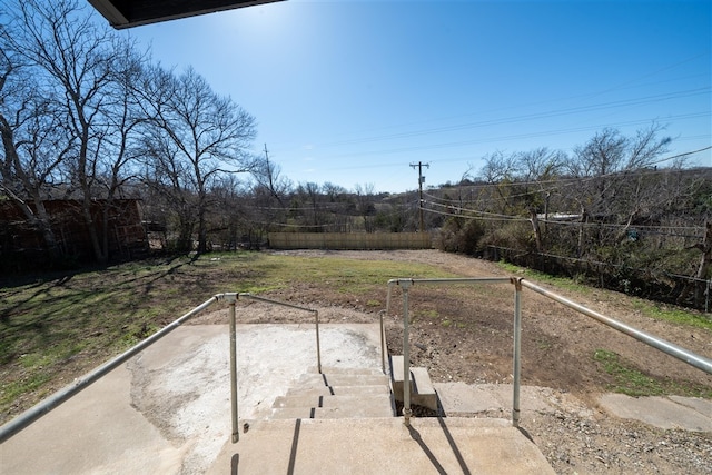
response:
<path id="1" fill-rule="evenodd" d="M 6 46 L 31 71 L 34 103 L 44 102 L 53 117 L 50 123 L 46 115 L 42 123 L 43 133 L 61 141 L 51 161 L 66 174 L 68 194 L 79 195 L 95 257 L 106 264 L 108 207 L 125 180 L 128 138 L 139 120 L 127 85 L 137 71 L 132 48 L 119 44 L 76 1 L 28 0 L 11 11 Z M 92 212 L 97 202 L 100 222 Z"/>

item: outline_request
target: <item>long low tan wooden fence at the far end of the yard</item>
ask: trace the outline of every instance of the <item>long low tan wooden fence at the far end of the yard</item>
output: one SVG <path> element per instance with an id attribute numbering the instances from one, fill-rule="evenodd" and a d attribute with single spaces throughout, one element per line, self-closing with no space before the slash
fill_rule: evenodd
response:
<path id="1" fill-rule="evenodd" d="M 427 232 L 269 232 L 273 249 L 429 249 Z"/>

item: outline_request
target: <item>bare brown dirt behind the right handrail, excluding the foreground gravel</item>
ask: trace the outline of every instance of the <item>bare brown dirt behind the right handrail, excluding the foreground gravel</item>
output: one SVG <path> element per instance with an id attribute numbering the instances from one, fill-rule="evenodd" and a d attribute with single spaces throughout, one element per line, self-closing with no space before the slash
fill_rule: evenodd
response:
<path id="1" fill-rule="evenodd" d="M 301 250 L 293 254 L 418 261 L 463 277 L 511 276 L 492 263 L 437 250 Z M 712 357 L 712 333 L 646 318 L 635 309 L 633 300 L 624 295 L 601 289 L 592 289 L 585 295 L 573 294 L 541 286 L 699 355 Z M 384 285 L 383 293 L 374 298 L 385 303 L 385 294 Z M 428 367 L 436 380 L 510 383 L 513 295 L 514 287 L 511 284 L 414 286 L 409 291 L 414 363 Z M 281 297 L 375 311 L 374 308 L 367 308 L 366 303 L 345 301 L 328 288 L 305 289 L 296 285 L 293 291 L 281 293 Z M 399 289 L 394 290 L 392 299 L 392 315 L 387 317 L 389 348 L 394 353 L 402 353 Z M 522 374 L 526 384 L 567 390 L 594 404 L 597 396 L 605 392 L 606 385 L 613 383 L 593 359 L 594 353 L 603 349 L 620 355 L 623 360 L 650 376 L 671 378 L 674 375 L 674 379 L 681 383 L 712 386 L 712 377 L 703 372 L 526 288 L 522 293 Z"/>

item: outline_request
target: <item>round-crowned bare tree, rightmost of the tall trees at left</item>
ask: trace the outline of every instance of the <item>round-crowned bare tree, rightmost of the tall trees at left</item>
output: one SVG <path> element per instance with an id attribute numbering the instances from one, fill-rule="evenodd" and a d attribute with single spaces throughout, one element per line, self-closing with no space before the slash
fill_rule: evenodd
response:
<path id="1" fill-rule="evenodd" d="M 152 174 L 149 181 L 175 199 L 184 244 L 195 225 L 197 250 L 204 253 L 210 187 L 225 174 L 256 166 L 247 151 L 255 137 L 255 119 L 230 98 L 212 91 L 192 68 L 180 76 L 152 68 L 144 89 L 151 118 L 145 142 Z"/>

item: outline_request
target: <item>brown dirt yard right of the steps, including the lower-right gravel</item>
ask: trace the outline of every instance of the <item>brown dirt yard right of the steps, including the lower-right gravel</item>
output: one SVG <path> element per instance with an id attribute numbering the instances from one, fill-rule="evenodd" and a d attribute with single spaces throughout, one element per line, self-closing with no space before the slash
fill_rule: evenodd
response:
<path id="1" fill-rule="evenodd" d="M 510 276 L 492 263 L 437 250 L 303 250 L 290 254 L 315 258 L 338 256 L 348 259 L 419 261 L 462 277 Z M 646 318 L 635 309 L 633 300 L 623 295 L 597 289 L 572 294 L 548 288 L 630 326 L 712 357 L 710 331 Z M 382 293 L 360 301 L 334 291 L 329 286 L 295 283 L 289 290 L 274 293 L 270 297 L 317 308 L 324 321 L 368 323 L 377 320 L 378 311 L 385 306 L 386 289 L 384 283 Z M 408 295 L 413 319 L 411 359 L 414 365 L 427 367 L 435 382 L 512 382 L 512 284 L 459 285 L 451 288 L 416 285 Z M 712 474 L 712 434 L 656 429 L 601 410 L 597 399 L 615 382 L 594 360 L 593 355 L 601 349 L 613 352 L 627 366 L 664 379 L 671 386 L 706 387 L 708 394 L 712 377 L 526 288 L 522 294 L 522 308 L 523 384 L 555 389 L 566 394 L 566 398 L 591 408 L 581 412 L 581 406 L 576 404 L 571 407 L 564 405 L 556 414 L 523 413 L 521 426 L 557 473 Z M 386 316 L 388 349 L 393 354 L 403 353 L 402 314 L 402 293 L 396 287 L 392 295 L 390 311 Z M 249 317 L 244 317 L 248 321 L 241 323 L 303 321 L 305 318 L 304 314 L 290 310 L 277 314 L 249 311 L 243 315 Z M 216 318 L 216 315 L 206 316 L 196 323 L 208 323 Z M 490 416 L 503 417 L 501 413 Z"/>

